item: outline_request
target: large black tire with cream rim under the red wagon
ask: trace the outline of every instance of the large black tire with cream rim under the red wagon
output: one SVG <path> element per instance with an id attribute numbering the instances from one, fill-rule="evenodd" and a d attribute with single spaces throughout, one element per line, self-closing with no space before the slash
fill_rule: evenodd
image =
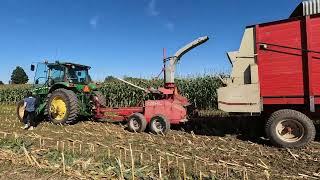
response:
<path id="1" fill-rule="evenodd" d="M 301 148 L 315 139 L 316 129 L 305 114 L 284 109 L 274 112 L 268 119 L 265 131 L 272 144 L 281 148 Z"/>

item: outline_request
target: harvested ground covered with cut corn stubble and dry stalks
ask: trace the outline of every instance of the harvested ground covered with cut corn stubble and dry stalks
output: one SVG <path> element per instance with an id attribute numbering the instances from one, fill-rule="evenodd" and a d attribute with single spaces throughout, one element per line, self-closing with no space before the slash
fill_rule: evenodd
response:
<path id="1" fill-rule="evenodd" d="M 319 134 L 278 149 L 251 133 L 254 121 L 207 117 L 153 135 L 91 121 L 25 131 L 14 106 L 1 106 L 0 119 L 0 179 L 132 179 L 132 170 L 136 179 L 320 179 Z"/>

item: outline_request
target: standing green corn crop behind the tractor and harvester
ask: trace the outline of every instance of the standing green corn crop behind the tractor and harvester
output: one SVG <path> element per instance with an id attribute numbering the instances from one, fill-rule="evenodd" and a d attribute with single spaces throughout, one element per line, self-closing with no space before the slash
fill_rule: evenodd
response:
<path id="1" fill-rule="evenodd" d="M 157 88 L 163 86 L 163 80 L 146 80 L 137 78 L 126 78 L 143 88 Z M 198 109 L 216 109 L 216 89 L 221 86 L 217 76 L 202 76 L 177 79 L 176 83 L 180 93 Z M 26 95 L 31 88 L 30 85 L 7 85 L 0 86 L 0 102 L 17 102 Z M 101 85 L 100 91 L 106 96 L 109 107 L 135 106 L 143 99 L 151 98 L 145 96 L 144 92 L 131 87 L 118 80 L 111 80 Z"/>

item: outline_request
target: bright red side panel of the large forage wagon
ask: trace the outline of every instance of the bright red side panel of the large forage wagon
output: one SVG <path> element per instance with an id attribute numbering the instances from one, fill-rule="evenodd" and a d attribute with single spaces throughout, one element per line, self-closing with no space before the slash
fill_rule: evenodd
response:
<path id="1" fill-rule="evenodd" d="M 255 26 L 256 61 L 264 105 L 320 104 L 320 16 Z M 268 44 L 261 49 L 260 44 Z"/>

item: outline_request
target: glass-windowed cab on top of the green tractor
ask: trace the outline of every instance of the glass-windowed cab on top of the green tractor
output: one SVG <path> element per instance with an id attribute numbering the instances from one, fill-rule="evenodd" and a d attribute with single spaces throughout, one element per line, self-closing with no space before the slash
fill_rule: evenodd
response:
<path id="1" fill-rule="evenodd" d="M 35 73 L 34 84 L 36 86 L 52 86 L 56 83 L 89 84 L 89 66 L 74 63 L 38 63 Z M 31 71 L 35 66 L 31 65 Z"/>

